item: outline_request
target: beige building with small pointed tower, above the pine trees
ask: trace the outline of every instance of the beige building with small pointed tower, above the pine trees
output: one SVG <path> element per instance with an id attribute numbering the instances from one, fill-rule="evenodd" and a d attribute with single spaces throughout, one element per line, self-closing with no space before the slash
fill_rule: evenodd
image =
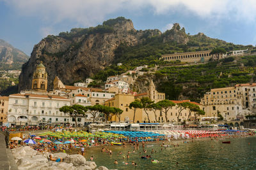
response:
<path id="1" fill-rule="evenodd" d="M 147 92 L 135 95 L 135 99 L 141 99 L 143 97 L 148 97 L 157 103 L 158 101 L 163 101 L 165 99 L 165 94 L 157 92 L 156 86 L 154 85 L 153 80 L 151 80 Z"/>

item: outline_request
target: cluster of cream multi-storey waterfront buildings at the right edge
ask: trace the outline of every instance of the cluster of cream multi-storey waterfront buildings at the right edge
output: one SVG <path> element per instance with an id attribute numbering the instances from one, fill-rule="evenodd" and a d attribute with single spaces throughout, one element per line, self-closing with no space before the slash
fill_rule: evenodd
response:
<path id="1" fill-rule="evenodd" d="M 218 117 L 220 113 L 225 120 L 243 119 L 256 113 L 256 83 L 211 89 L 200 104 L 207 117 Z"/>

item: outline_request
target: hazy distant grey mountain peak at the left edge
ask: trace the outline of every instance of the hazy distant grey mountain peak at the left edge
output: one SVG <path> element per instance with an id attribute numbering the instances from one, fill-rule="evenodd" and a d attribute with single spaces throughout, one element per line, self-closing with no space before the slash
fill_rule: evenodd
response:
<path id="1" fill-rule="evenodd" d="M 21 69 L 29 57 L 24 52 L 0 39 L 0 70 Z"/>

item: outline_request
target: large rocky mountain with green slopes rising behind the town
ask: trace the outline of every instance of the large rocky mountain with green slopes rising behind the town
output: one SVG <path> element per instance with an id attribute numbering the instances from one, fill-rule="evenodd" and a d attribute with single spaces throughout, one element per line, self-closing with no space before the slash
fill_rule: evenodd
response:
<path id="1" fill-rule="evenodd" d="M 55 76 L 65 84 L 88 77 L 104 81 L 107 76 L 124 73 L 143 64 L 150 67 L 166 64 L 159 60 L 164 53 L 211 50 L 216 46 L 227 51 L 244 48 L 243 45 L 209 38 L 203 33 L 187 34 L 179 24 L 173 24 L 172 29 L 165 32 L 158 29 L 139 31 L 134 29 L 131 20 L 118 17 L 97 27 L 74 28 L 42 39 L 22 66 L 19 90 L 31 88 L 33 71 L 40 61 L 49 74 L 48 89 L 52 89 Z M 116 66 L 118 62 L 123 65 Z"/>

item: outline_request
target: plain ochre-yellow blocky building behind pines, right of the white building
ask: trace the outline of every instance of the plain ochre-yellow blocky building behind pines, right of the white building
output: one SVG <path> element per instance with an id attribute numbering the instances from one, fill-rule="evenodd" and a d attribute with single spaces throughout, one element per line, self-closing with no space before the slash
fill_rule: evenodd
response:
<path id="1" fill-rule="evenodd" d="M 105 102 L 105 106 L 120 108 L 124 112 L 120 117 L 122 122 L 132 122 L 134 116 L 134 110 L 129 108 L 129 104 L 134 101 L 134 96 L 130 94 L 116 94 L 115 97 Z M 134 122 L 141 122 L 142 110 L 137 109 L 135 114 Z M 116 115 L 109 118 L 109 121 L 118 122 L 119 119 Z"/>

